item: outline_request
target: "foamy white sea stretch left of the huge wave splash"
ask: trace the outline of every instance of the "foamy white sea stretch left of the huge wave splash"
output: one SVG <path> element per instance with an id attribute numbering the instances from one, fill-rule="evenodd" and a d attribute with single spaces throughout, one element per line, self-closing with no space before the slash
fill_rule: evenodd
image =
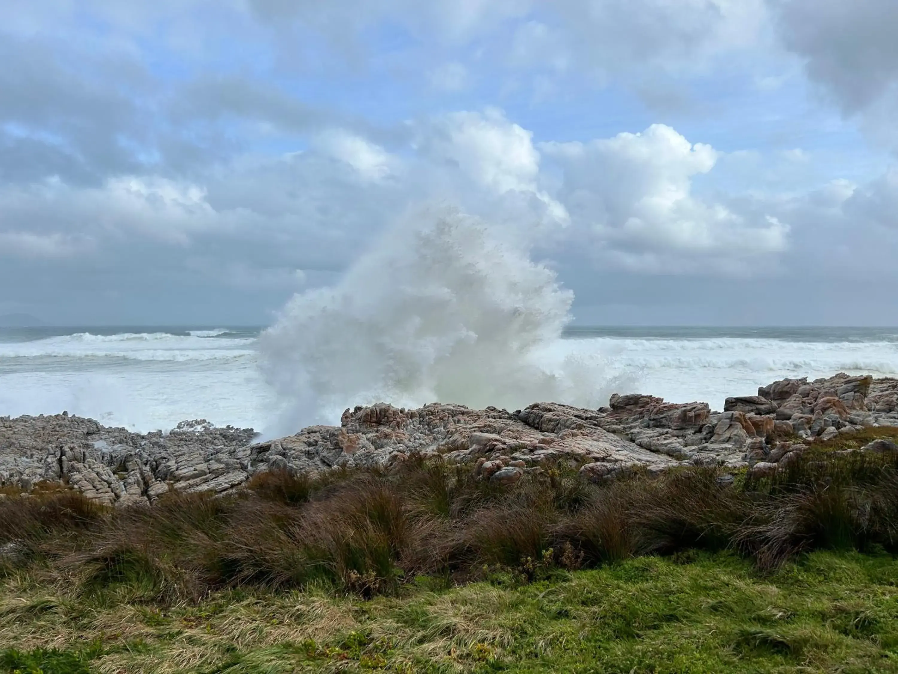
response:
<path id="1" fill-rule="evenodd" d="M 184 419 L 260 427 L 274 407 L 256 366 L 257 331 L 41 337 L 48 331 L 0 333 L 0 414 L 66 410 L 146 431 Z"/>

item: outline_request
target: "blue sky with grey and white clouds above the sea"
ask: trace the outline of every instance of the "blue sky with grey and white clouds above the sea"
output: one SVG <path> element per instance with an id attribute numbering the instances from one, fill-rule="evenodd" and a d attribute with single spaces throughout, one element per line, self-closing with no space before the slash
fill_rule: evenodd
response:
<path id="1" fill-rule="evenodd" d="M 578 324 L 898 324 L 896 33 L 894 0 L 4 2 L 0 314 L 269 324 L 437 205 L 525 236 Z"/>

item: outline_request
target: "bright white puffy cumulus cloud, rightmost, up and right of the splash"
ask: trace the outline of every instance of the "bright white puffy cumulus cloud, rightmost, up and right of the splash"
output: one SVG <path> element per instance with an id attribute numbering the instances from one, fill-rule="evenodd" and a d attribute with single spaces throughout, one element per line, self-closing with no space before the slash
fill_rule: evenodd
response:
<path id="1" fill-rule="evenodd" d="M 545 143 L 564 172 L 558 198 L 577 224 L 591 229 L 605 257 L 633 270 L 741 270 L 788 245 L 776 217 L 746 217 L 692 194 L 692 179 L 709 173 L 718 154 L 655 124 L 643 133 L 588 143 Z"/>

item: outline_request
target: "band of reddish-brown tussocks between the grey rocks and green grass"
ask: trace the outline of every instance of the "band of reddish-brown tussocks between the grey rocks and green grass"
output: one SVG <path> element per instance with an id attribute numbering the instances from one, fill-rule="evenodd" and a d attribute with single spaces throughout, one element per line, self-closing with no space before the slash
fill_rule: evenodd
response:
<path id="1" fill-rule="evenodd" d="M 894 454 L 808 448 L 773 475 L 723 477 L 684 467 L 594 484 L 559 464 L 502 485 L 409 457 L 390 471 L 260 474 L 242 492 L 169 492 L 152 506 L 45 492 L 0 501 L 0 567 L 40 558 L 86 595 L 176 602 L 314 584 L 373 596 L 421 574 L 467 581 L 484 565 L 542 572 L 693 549 L 764 569 L 819 548 L 898 551 Z"/>

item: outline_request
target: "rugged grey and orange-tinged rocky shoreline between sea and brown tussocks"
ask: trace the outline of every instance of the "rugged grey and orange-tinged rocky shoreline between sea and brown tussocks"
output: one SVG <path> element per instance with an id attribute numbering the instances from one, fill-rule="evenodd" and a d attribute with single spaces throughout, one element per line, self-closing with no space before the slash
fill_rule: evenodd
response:
<path id="1" fill-rule="evenodd" d="M 515 412 L 375 404 L 347 410 L 339 427 L 313 426 L 265 442 L 254 442 L 252 429 L 205 421 L 139 434 L 64 412 L 0 417 L 0 485 L 28 492 L 39 483 L 64 482 L 91 499 L 127 505 L 153 502 L 170 490 L 229 492 L 269 470 L 389 468 L 411 455 L 470 464 L 484 479 L 503 483 L 559 460 L 581 466 L 593 480 L 674 466 L 765 474 L 814 442 L 877 426 L 898 427 L 898 379 L 783 379 L 758 395 L 727 398 L 723 412 L 650 395 L 612 395 L 598 410 L 555 403 Z M 869 449 L 895 447 L 876 440 Z"/>

